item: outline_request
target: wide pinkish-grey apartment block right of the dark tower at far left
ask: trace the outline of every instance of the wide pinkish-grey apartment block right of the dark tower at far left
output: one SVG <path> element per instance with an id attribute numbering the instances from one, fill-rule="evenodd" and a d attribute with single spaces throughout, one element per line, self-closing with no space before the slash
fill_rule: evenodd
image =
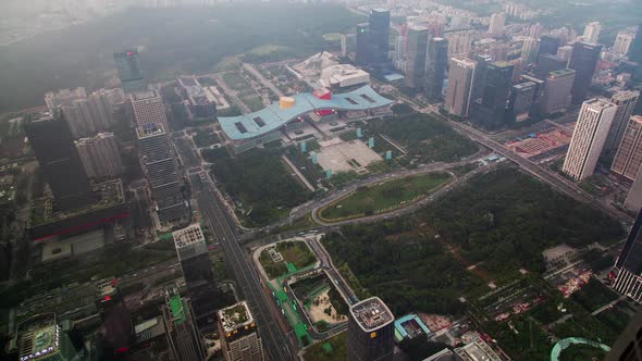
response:
<path id="1" fill-rule="evenodd" d="M 123 163 L 113 133 L 99 133 L 76 140 L 85 173 L 90 178 L 115 177 L 123 173 Z"/>

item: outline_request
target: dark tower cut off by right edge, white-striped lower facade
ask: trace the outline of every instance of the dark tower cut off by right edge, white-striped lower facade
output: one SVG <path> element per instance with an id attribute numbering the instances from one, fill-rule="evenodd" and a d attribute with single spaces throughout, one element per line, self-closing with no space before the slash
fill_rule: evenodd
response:
<path id="1" fill-rule="evenodd" d="M 613 288 L 620 295 L 642 302 L 642 212 L 631 227 L 629 237 L 615 262 Z"/>

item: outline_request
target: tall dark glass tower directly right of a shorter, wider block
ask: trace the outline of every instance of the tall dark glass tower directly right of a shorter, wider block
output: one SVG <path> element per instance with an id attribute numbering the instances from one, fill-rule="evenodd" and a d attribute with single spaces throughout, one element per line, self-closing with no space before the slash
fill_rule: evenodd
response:
<path id="1" fill-rule="evenodd" d="M 576 71 L 572 86 L 572 102 L 579 104 L 587 98 L 587 91 L 591 87 L 591 80 L 595 73 L 602 46 L 577 41 L 568 62 L 568 67 Z"/>

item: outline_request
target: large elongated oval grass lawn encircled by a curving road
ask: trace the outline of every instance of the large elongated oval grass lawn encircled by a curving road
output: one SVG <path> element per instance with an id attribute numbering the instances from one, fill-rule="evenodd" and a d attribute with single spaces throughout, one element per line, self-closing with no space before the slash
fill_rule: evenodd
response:
<path id="1" fill-rule="evenodd" d="M 425 196 L 450 180 L 447 173 L 429 173 L 358 188 L 351 195 L 323 208 L 324 221 L 359 217 L 387 211 Z"/>

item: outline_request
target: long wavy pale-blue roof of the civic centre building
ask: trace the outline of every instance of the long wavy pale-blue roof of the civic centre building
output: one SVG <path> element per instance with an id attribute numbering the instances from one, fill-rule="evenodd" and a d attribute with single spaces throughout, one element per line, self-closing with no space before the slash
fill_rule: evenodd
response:
<path id="1" fill-rule="evenodd" d="M 301 92 L 293 96 L 295 103 L 287 109 L 281 109 L 279 103 L 273 103 L 258 112 L 239 116 L 219 117 L 221 128 L 232 140 L 244 140 L 262 136 L 275 130 L 289 121 L 295 120 L 312 111 L 320 110 L 369 110 L 390 105 L 392 100 L 383 98 L 370 86 L 359 89 L 334 94 L 332 99 L 319 99 L 311 92 Z"/>

